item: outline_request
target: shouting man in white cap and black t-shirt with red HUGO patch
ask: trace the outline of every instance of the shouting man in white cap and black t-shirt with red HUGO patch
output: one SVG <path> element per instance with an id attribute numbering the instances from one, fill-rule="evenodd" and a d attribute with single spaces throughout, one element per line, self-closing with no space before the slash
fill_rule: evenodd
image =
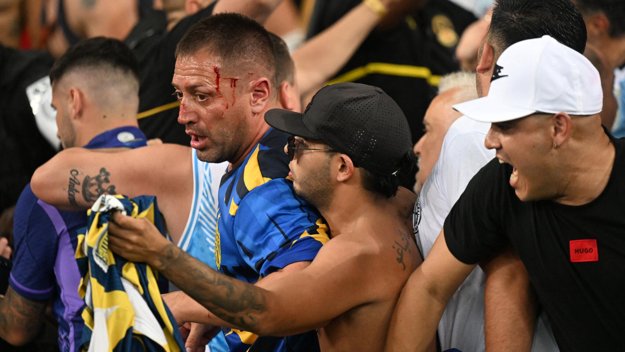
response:
<path id="1" fill-rule="evenodd" d="M 508 244 L 562 351 L 625 345 L 625 141 L 602 128 L 601 107 L 599 73 L 548 36 L 510 46 L 489 95 L 454 106 L 492 123 L 485 144 L 497 159 L 468 184 L 406 284 L 387 351 L 399 350 L 398 336 L 426 343 L 476 263 Z"/>

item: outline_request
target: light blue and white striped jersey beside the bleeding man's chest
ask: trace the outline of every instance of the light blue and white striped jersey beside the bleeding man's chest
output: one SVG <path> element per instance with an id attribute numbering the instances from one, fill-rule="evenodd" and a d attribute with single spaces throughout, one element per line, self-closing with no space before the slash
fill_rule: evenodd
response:
<path id="1" fill-rule="evenodd" d="M 217 194 L 219 181 L 228 166 L 204 163 L 197 159 L 195 149 L 191 149 L 193 161 L 193 200 L 191 212 L 178 247 L 193 258 L 217 269 L 215 264 L 215 229 L 217 228 Z M 217 334 L 208 344 L 211 352 L 227 352 L 228 346 L 223 333 Z"/>

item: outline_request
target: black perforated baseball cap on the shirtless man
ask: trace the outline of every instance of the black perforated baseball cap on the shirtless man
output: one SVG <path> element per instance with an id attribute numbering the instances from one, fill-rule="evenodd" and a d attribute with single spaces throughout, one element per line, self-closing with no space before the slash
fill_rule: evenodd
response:
<path id="1" fill-rule="evenodd" d="M 294 136 L 321 139 L 356 167 L 379 174 L 399 169 L 412 150 L 406 116 L 381 88 L 336 83 L 312 97 L 303 114 L 284 109 L 265 113 L 269 126 Z"/>

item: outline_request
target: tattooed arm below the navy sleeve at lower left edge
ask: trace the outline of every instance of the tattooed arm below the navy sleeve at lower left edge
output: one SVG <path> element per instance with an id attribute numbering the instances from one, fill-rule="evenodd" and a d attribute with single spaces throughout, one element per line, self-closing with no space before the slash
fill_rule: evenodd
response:
<path id="1" fill-rule="evenodd" d="M 26 334 L 27 340 L 39 333 L 47 302 L 22 297 L 9 286 L 6 297 L 0 299 L 0 336 L 9 333 Z"/>

